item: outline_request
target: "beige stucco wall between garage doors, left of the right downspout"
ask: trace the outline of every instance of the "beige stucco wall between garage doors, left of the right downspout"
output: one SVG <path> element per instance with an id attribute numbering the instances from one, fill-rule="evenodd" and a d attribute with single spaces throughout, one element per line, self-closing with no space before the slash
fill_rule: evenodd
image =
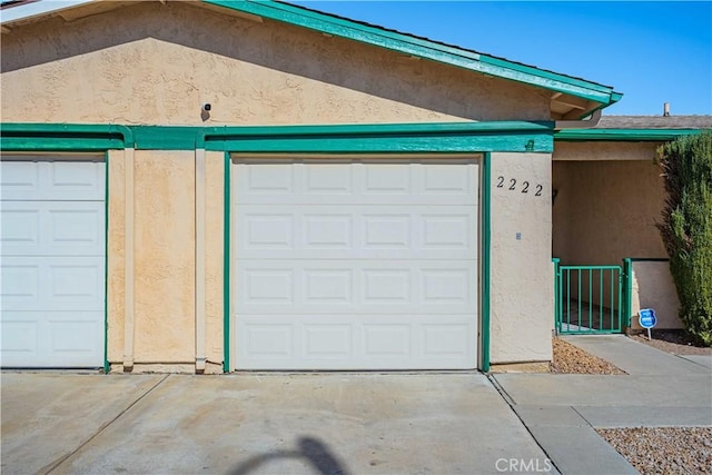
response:
<path id="1" fill-rule="evenodd" d="M 135 365 L 195 362 L 195 154 L 137 150 L 134 156 Z M 108 358 L 125 356 L 126 159 L 109 154 Z M 129 192 L 131 190 L 129 189 Z M 220 358 L 221 360 L 221 358 Z"/>

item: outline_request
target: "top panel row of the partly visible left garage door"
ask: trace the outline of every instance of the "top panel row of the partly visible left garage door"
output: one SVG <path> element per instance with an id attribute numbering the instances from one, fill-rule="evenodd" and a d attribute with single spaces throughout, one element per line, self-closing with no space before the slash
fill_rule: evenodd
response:
<path id="1" fill-rule="evenodd" d="M 3 200 L 105 199 L 105 164 L 100 161 L 2 161 L 0 185 Z M 47 158 L 42 157 L 43 160 Z"/>

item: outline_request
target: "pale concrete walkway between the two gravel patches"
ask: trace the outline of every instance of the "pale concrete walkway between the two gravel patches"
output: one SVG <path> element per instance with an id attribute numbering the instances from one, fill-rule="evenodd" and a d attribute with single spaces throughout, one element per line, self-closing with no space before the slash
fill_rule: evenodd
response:
<path id="1" fill-rule="evenodd" d="M 594 428 L 712 426 L 709 357 L 670 355 L 623 335 L 564 339 L 629 374 L 493 376 L 562 473 L 636 473 Z"/>

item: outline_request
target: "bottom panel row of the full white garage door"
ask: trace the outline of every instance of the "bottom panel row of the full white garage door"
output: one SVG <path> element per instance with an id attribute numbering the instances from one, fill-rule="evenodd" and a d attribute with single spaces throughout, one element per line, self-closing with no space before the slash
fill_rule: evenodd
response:
<path id="1" fill-rule="evenodd" d="M 472 317 L 378 315 L 344 318 L 244 315 L 244 369 L 467 369 L 476 359 Z M 467 362 L 469 364 L 463 364 Z"/>

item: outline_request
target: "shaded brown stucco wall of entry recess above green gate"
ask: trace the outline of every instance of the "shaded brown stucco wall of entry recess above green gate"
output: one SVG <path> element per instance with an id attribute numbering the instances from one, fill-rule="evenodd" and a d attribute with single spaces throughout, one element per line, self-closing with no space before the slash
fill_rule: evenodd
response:
<path id="1" fill-rule="evenodd" d="M 655 227 L 665 190 L 653 161 L 555 161 L 553 184 L 553 255 L 562 264 L 666 257 Z"/>

